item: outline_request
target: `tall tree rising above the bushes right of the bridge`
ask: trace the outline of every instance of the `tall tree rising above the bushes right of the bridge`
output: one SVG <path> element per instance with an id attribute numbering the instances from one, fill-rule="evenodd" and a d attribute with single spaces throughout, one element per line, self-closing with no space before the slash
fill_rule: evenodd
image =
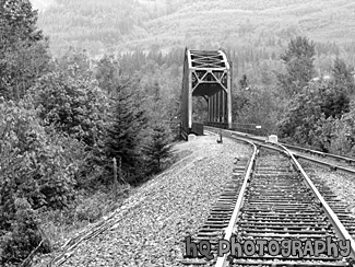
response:
<path id="1" fill-rule="evenodd" d="M 291 97 L 307 85 L 315 74 L 315 44 L 307 37 L 291 39 L 288 49 L 281 56 L 286 73 L 279 74 L 279 82 L 286 96 Z"/>

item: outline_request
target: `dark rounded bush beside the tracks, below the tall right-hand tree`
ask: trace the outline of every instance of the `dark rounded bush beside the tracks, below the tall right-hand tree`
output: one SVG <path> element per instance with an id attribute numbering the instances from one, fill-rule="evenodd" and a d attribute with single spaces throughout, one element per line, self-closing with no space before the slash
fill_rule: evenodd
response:
<path id="1" fill-rule="evenodd" d="M 334 134 L 332 120 L 347 113 L 350 98 L 327 81 L 304 88 L 287 106 L 279 135 L 289 141 L 328 151 Z"/>

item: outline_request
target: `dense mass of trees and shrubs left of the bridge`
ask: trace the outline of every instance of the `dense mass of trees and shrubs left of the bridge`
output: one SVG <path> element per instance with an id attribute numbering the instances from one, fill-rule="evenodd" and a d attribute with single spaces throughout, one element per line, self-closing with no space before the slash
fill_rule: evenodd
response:
<path id="1" fill-rule="evenodd" d="M 171 156 L 178 106 L 163 84 L 109 55 L 55 59 L 36 21 L 28 1 L 0 1 L 1 266 L 52 251 L 43 219 L 85 219 L 82 199 L 113 188 L 114 159 L 119 183 L 134 186 Z"/>

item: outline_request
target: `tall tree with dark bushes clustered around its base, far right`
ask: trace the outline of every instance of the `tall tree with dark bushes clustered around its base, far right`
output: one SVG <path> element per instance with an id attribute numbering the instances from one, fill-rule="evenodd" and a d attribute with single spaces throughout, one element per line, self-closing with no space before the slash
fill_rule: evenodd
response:
<path id="1" fill-rule="evenodd" d="M 279 135 L 326 152 L 348 153 L 352 141 L 346 132 L 351 127 L 345 127 L 342 119 L 352 112 L 350 102 L 355 85 L 351 68 L 336 58 L 332 78 L 310 80 L 313 55 L 313 43 L 305 37 L 292 39 L 282 55 L 287 73 L 280 74 L 279 81 L 293 97 L 279 121 Z"/>

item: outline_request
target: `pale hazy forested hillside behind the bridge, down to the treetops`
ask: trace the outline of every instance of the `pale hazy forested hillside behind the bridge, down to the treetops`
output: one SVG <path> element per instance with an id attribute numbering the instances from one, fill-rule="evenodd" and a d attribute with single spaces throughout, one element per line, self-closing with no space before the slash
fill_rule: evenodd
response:
<path id="1" fill-rule="evenodd" d="M 222 47 L 233 61 L 235 80 L 247 73 L 260 85 L 275 81 L 274 72 L 283 69 L 280 55 L 292 37 L 304 35 L 316 43 L 318 76 L 331 72 L 335 57 L 355 62 L 355 3 L 350 0 L 33 2 L 44 9 L 38 25 L 49 36 L 55 57 L 69 47 L 85 49 L 92 58 L 113 54 L 126 57 L 126 62 L 144 73 L 145 66 L 132 61 L 151 53 L 159 57 L 166 72 L 171 60 L 163 62 L 164 56 L 181 66 L 179 54 L 186 46 Z M 176 67 L 173 69 L 175 72 Z M 175 73 L 181 76 L 181 69 Z"/>

